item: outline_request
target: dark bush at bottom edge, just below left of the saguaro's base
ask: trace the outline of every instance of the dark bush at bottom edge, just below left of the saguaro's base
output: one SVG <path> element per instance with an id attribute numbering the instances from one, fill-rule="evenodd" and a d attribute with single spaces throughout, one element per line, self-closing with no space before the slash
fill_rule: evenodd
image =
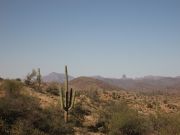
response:
<path id="1" fill-rule="evenodd" d="M 37 113 L 32 123 L 38 130 L 50 135 L 72 134 L 74 132 L 71 123 L 64 123 L 63 112 L 58 108 L 47 108 L 41 113 Z"/>

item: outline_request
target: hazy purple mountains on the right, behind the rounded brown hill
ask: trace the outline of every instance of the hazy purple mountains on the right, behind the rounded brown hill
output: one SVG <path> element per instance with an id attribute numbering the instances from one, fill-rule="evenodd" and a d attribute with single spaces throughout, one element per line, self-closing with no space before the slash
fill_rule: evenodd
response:
<path id="1" fill-rule="evenodd" d="M 115 78 L 104 78 L 95 77 L 108 84 L 120 86 L 127 90 L 166 90 L 180 91 L 180 78 L 179 77 L 161 77 L 161 76 L 145 76 L 143 78 L 126 78 L 126 79 L 115 79 Z"/>

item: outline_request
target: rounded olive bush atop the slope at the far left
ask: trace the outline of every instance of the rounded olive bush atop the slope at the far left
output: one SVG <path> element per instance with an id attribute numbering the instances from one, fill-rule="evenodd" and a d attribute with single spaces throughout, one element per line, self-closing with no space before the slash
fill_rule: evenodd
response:
<path id="1" fill-rule="evenodd" d="M 2 89 L 5 90 L 7 96 L 17 96 L 20 94 L 23 84 L 16 80 L 5 80 Z"/>

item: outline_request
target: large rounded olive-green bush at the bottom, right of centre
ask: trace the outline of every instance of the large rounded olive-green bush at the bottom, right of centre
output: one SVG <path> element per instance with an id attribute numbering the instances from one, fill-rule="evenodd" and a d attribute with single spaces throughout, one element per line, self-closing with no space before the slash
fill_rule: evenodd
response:
<path id="1" fill-rule="evenodd" d="M 110 135 L 142 135 L 150 130 L 147 120 L 125 103 L 108 106 L 98 124 L 104 127 L 103 132 Z"/>

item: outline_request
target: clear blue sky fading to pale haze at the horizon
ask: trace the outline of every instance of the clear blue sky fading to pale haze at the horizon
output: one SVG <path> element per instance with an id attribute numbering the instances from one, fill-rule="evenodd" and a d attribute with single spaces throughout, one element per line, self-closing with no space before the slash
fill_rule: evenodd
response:
<path id="1" fill-rule="evenodd" d="M 0 76 L 180 75 L 180 0 L 0 0 Z"/>

